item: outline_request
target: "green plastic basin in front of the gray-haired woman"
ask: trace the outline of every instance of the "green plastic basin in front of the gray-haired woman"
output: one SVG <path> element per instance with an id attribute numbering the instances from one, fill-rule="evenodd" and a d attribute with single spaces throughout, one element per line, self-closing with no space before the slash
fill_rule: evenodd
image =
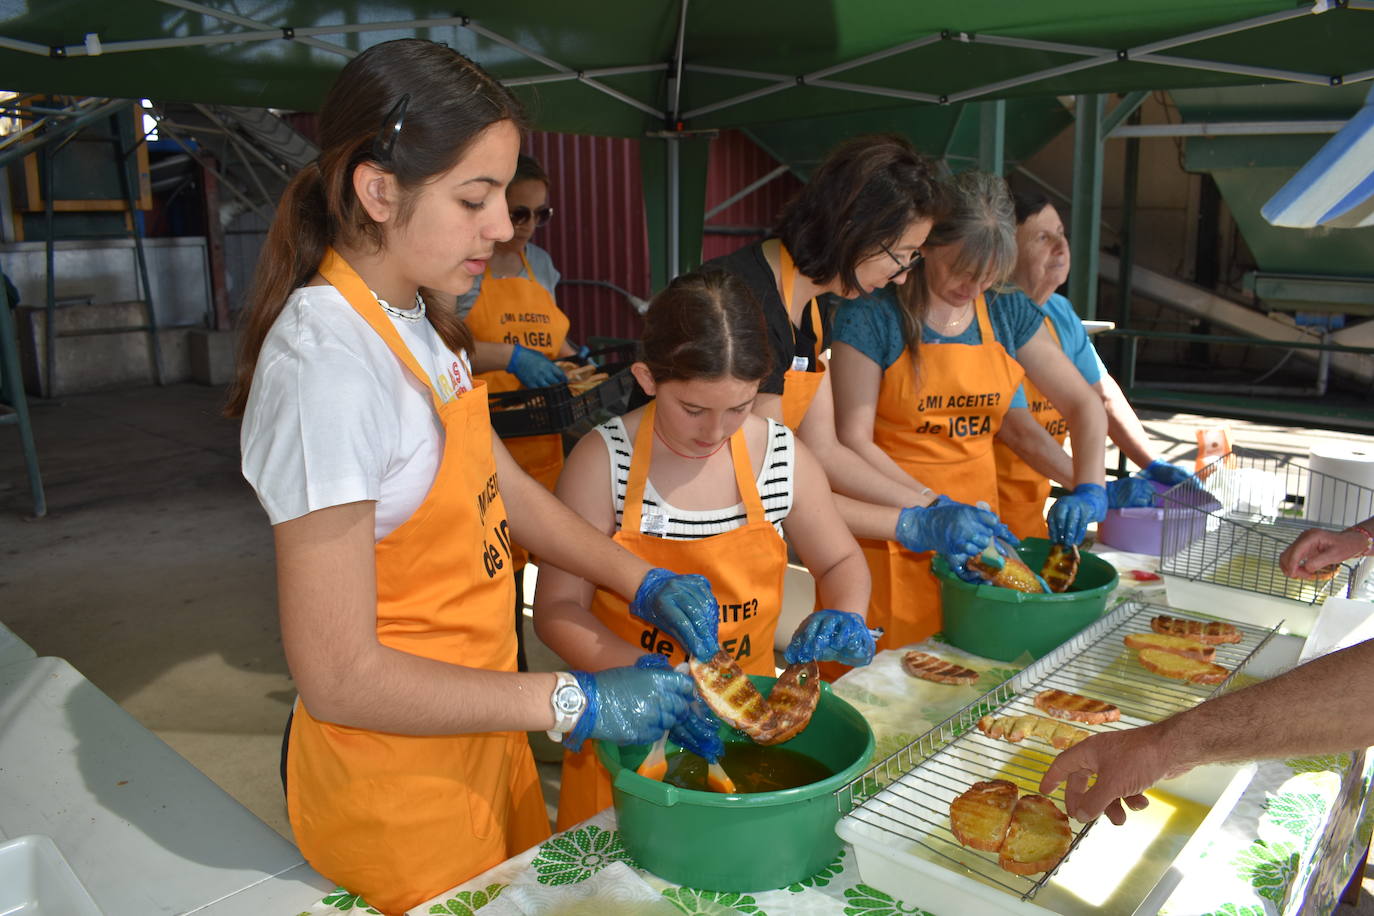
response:
<path id="1" fill-rule="evenodd" d="M 1050 541 L 1028 537 L 1017 548 L 1021 559 L 1040 571 Z M 1011 662 L 1029 652 L 1040 658 L 1102 617 L 1107 596 L 1116 589 L 1116 567 L 1083 551 L 1079 575 L 1068 592 L 1026 595 L 996 585 L 971 585 L 949 571 L 944 558 L 930 564 L 940 581 L 944 639 L 974 655 Z"/>

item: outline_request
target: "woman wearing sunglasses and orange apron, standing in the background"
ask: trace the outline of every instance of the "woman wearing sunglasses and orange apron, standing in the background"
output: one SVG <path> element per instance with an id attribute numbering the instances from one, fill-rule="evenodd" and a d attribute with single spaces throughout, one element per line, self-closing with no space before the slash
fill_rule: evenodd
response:
<path id="1" fill-rule="evenodd" d="M 466 312 L 463 320 L 477 341 L 473 368 L 491 393 L 566 382 L 567 376 L 554 360 L 577 354 L 567 342 L 567 316 L 554 299 L 558 268 L 544 249 L 530 242 L 534 229 L 554 216 L 554 207 L 548 206 L 548 174 L 532 157 L 521 155 L 517 162 L 515 177 L 506 188 L 506 206 L 515 235 L 496 243 L 486 271 L 477 277 L 471 291 L 458 299 L 458 312 Z M 563 470 L 561 434 L 521 435 L 506 439 L 506 448 L 530 477 L 554 490 Z M 529 558 L 518 544 L 514 548 L 515 634 L 518 665 L 523 672 L 521 571 Z"/>

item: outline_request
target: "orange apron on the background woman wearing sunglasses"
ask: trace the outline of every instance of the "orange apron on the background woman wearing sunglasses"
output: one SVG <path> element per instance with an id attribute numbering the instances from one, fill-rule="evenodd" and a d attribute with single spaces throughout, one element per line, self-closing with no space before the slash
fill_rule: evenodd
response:
<path id="1" fill-rule="evenodd" d="M 477 302 L 464 320 L 473 338 L 478 341 L 519 343 L 551 360 L 556 358 L 567 339 L 567 316 L 554 302 L 552 293 L 534 282 L 523 251 L 519 253 L 519 261 L 525 266 L 525 276 L 493 277 L 488 265 Z M 519 379 L 504 369 L 482 372 L 477 378 L 486 382 L 491 393 L 515 391 L 521 387 Z M 563 470 L 562 434 L 518 435 L 506 439 L 506 449 L 544 489 L 554 492 Z M 528 555 L 518 544 L 514 558 L 515 569 L 525 566 Z"/>

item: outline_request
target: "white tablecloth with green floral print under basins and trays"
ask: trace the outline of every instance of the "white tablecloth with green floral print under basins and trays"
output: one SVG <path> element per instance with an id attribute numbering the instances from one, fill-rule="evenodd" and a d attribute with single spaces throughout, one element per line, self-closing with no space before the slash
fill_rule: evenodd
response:
<path id="1" fill-rule="evenodd" d="M 1157 560 L 1106 553 L 1118 570 L 1149 571 Z M 1112 604 L 1140 599 L 1162 603 L 1162 582 L 1123 575 Z M 925 648 L 980 673 L 970 687 L 915 681 L 901 670 L 901 651 L 881 652 L 851 672 L 834 691 L 868 720 L 877 739 L 874 759 L 905 746 L 1018 672 L 938 641 Z M 918 647 L 919 648 L 919 647 Z M 1366 805 L 1374 757 L 1363 751 L 1319 758 L 1265 761 L 1231 814 L 1195 861 L 1180 862 L 1184 878 L 1161 908 L 1168 916 L 1290 916 L 1330 913 L 1356 867 L 1363 865 L 1374 812 Z M 635 867 L 621 843 L 611 809 L 556 834 L 407 916 L 966 916 L 922 909 L 863 883 L 853 850 L 820 873 L 785 889 L 730 894 L 669 884 Z M 344 889 L 298 916 L 375 913 Z M 969 911 L 973 912 L 973 911 Z M 293 915 L 294 916 L 294 915 Z"/>

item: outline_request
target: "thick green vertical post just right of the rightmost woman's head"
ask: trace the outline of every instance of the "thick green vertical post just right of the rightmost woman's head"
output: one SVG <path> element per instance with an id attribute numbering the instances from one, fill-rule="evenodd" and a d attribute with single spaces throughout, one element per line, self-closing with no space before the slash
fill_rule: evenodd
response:
<path id="1" fill-rule="evenodd" d="M 1077 96 L 1073 106 L 1073 213 L 1070 218 L 1069 301 L 1085 319 L 1098 314 L 1098 228 L 1102 211 L 1102 115 L 1105 98 Z"/>

